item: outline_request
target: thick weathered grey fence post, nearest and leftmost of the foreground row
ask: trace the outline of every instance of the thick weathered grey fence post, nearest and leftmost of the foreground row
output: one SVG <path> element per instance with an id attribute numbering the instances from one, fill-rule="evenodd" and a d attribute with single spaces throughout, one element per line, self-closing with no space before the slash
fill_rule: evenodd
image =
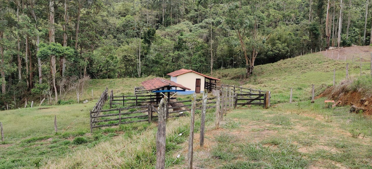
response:
<path id="1" fill-rule="evenodd" d="M 161 99 L 158 108 L 158 131 L 156 133 L 156 169 L 165 168 L 166 102 Z"/>

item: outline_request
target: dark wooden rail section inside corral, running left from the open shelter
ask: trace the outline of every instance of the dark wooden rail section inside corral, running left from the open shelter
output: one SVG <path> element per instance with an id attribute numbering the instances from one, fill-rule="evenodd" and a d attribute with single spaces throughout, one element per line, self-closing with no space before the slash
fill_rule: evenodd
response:
<path id="1" fill-rule="evenodd" d="M 131 106 L 139 106 L 139 105 L 146 105 L 147 103 L 157 103 L 157 100 L 160 100 L 163 96 L 157 94 L 150 94 L 150 95 L 122 95 L 122 96 L 114 96 L 113 91 L 111 90 L 110 94 L 110 108 L 113 105 L 131 105 Z M 119 102 L 118 102 L 119 101 Z"/>

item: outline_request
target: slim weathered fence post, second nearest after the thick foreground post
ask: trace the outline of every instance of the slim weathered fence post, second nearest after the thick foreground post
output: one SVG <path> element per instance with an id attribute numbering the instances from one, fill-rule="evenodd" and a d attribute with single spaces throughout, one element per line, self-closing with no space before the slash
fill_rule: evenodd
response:
<path id="1" fill-rule="evenodd" d="M 190 135 L 189 135 L 189 152 L 187 153 L 187 168 L 192 169 L 192 158 L 193 158 L 193 142 L 194 142 L 194 123 L 195 123 L 195 102 L 196 93 L 194 92 L 192 96 L 191 105 L 191 120 L 190 120 Z"/>

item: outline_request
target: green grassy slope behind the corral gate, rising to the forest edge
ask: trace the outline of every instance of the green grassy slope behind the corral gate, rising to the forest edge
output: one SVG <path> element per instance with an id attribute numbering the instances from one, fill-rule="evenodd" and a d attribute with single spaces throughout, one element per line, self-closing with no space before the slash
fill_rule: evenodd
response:
<path id="1" fill-rule="evenodd" d="M 253 75 L 244 78 L 244 68 L 216 70 L 213 76 L 221 78 L 223 84 L 271 91 L 271 104 L 288 103 L 289 92 L 293 88 L 292 101 L 306 101 L 311 98 L 311 85 L 315 85 L 315 94 L 333 84 L 333 69 L 336 69 L 336 83 L 346 77 L 346 63 L 349 63 L 349 75 L 359 76 L 359 63 L 336 61 L 318 53 L 281 60 L 272 64 L 254 67 Z M 368 62 L 369 63 L 369 62 Z M 363 70 L 363 75 L 369 70 Z M 243 77 L 240 79 L 240 77 Z M 371 84 L 370 79 L 360 81 Z M 371 85 L 368 86 L 371 91 Z"/>

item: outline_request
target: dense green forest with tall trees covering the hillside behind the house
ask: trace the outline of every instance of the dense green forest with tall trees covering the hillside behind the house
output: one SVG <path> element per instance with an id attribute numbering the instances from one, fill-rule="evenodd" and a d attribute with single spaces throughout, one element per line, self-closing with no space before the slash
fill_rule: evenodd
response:
<path id="1" fill-rule="evenodd" d="M 369 45 L 368 0 L 0 0 L 0 109 L 64 99 L 84 79 L 213 75 Z M 44 98 L 44 97 L 41 97 Z M 18 105 L 19 106 L 19 105 Z"/>

